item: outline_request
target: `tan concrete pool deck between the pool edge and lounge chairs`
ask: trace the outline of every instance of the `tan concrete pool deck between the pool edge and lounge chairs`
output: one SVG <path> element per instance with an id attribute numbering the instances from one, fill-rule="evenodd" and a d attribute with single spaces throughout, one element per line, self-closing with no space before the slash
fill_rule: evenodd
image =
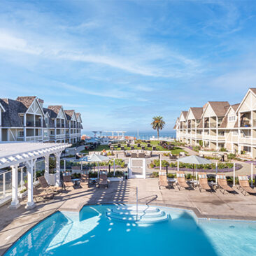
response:
<path id="1" fill-rule="evenodd" d="M 0 255 L 6 251 L 22 234 L 55 211 L 80 211 L 88 204 L 136 204 L 186 208 L 194 211 L 198 218 L 216 218 L 256 221 L 256 196 L 243 196 L 235 187 L 237 194 L 222 194 L 194 190 L 159 190 L 157 178 L 130 179 L 111 182 L 108 189 L 77 187 L 69 192 L 57 194 L 54 199 L 38 201 L 36 208 L 24 208 L 27 199 L 20 201 L 20 208 L 10 209 L 8 204 L 0 208 Z M 256 191 L 256 190 L 255 190 Z"/>

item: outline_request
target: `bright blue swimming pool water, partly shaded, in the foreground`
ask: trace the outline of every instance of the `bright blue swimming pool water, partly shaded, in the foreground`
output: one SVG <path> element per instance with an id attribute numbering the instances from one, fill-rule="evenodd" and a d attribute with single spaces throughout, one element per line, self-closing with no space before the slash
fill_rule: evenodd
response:
<path id="1" fill-rule="evenodd" d="M 110 220 L 111 205 L 57 212 L 24 234 L 8 255 L 256 255 L 256 223 L 197 220 L 161 207 L 171 218 L 141 224 Z M 159 207 L 160 208 L 160 207 Z"/>

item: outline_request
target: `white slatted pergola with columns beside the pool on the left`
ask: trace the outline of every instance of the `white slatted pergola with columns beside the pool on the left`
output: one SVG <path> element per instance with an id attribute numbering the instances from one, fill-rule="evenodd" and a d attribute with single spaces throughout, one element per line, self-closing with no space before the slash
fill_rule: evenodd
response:
<path id="1" fill-rule="evenodd" d="M 45 158 L 45 179 L 49 179 L 49 156 L 54 154 L 56 157 L 56 186 L 60 186 L 60 156 L 65 148 L 70 147 L 68 143 L 29 143 L 13 142 L 0 143 L 0 169 L 11 167 L 12 169 L 12 201 L 11 208 L 20 206 L 17 197 L 17 169 L 19 164 L 27 166 L 27 208 L 34 208 L 33 200 L 33 170 L 36 159 Z"/>

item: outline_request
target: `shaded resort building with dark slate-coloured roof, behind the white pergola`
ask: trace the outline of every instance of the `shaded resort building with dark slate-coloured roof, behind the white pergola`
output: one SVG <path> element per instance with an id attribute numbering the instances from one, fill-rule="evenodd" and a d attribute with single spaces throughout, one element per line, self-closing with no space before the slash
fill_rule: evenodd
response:
<path id="1" fill-rule="evenodd" d="M 82 128 L 80 113 L 66 113 L 62 106 L 43 108 L 36 96 L 0 99 L 0 141 L 76 143 Z"/>

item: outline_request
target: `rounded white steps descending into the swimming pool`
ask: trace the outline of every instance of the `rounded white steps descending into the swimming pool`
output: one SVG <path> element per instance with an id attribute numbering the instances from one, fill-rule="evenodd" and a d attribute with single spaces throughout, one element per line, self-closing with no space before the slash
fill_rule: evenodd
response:
<path id="1" fill-rule="evenodd" d="M 109 218 L 128 222 L 162 222 L 169 219 L 169 214 L 152 206 L 115 206 L 106 213 Z"/>

